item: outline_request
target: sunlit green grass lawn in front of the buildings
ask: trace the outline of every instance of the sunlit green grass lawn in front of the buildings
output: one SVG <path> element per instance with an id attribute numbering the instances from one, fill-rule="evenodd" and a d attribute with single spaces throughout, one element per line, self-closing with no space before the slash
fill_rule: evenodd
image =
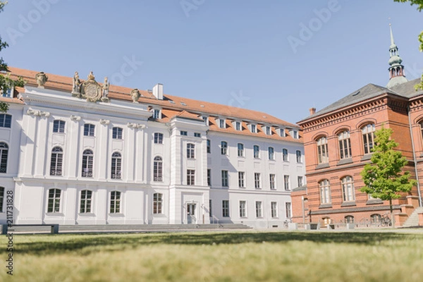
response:
<path id="1" fill-rule="evenodd" d="M 422 281 L 423 233 L 15 235 L 0 281 Z"/>

